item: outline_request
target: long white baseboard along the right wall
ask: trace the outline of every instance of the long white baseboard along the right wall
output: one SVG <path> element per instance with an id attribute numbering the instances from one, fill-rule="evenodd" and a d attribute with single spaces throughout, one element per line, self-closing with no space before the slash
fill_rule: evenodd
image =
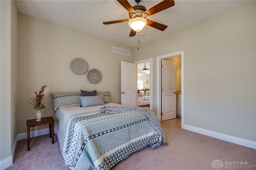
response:
<path id="1" fill-rule="evenodd" d="M 256 142 L 251 141 L 251 140 L 246 140 L 246 139 L 238 138 L 238 137 L 235 137 L 235 136 L 230 136 L 230 135 L 227 135 L 227 134 L 222 134 L 222 133 L 214 132 L 214 131 L 211 131 L 211 130 L 206 130 L 206 129 L 203 129 L 203 128 L 198 128 L 198 127 L 185 125 L 185 124 L 183 125 L 183 128 L 186 129 L 186 130 L 190 130 L 192 132 L 204 134 L 206 136 L 211 136 L 213 138 L 225 140 L 225 141 L 228 141 L 228 142 L 231 142 L 231 143 L 246 146 L 248 148 L 256 149 Z"/>

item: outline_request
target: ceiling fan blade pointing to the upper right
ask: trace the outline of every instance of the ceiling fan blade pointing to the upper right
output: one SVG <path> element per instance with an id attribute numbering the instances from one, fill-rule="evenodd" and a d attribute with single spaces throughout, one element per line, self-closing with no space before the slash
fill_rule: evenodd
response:
<path id="1" fill-rule="evenodd" d="M 170 8 L 172 6 L 174 6 L 174 0 L 164 0 L 159 4 L 156 4 L 152 8 L 146 10 L 144 13 L 147 13 L 148 16 L 150 16 L 150 15 L 156 14 L 157 12 Z"/>

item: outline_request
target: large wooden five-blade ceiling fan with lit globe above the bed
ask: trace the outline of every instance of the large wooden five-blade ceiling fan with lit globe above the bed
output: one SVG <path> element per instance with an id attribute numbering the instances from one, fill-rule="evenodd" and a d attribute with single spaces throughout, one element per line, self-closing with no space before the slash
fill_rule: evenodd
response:
<path id="1" fill-rule="evenodd" d="M 135 36 L 136 32 L 140 32 L 140 30 L 142 30 L 142 28 L 146 25 L 164 31 L 167 28 L 166 25 L 146 19 L 146 17 L 174 6 L 174 0 L 164 0 L 147 10 L 145 6 L 139 5 L 140 0 L 134 0 L 135 2 L 137 2 L 137 5 L 135 6 L 131 6 L 127 0 L 117 1 L 129 12 L 129 18 L 124 20 L 103 22 L 103 24 L 107 25 L 120 22 L 129 22 L 128 25 L 130 28 L 132 28 L 130 32 L 130 37 Z M 136 22 L 140 22 L 142 25 L 138 28 L 133 28 L 133 25 Z M 137 26 L 137 24 L 135 25 Z"/>

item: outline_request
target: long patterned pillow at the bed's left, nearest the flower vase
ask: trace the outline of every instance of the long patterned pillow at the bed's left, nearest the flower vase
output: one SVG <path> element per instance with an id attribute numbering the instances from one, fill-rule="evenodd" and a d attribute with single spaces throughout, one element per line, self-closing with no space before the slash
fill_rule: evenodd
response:
<path id="1" fill-rule="evenodd" d="M 69 93 L 50 93 L 54 110 L 60 107 L 79 106 L 81 105 L 79 96 L 80 92 Z"/>

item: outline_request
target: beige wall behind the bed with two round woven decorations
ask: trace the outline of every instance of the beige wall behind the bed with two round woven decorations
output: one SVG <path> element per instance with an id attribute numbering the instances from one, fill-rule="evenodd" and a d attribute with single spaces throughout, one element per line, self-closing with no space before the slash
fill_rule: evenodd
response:
<path id="1" fill-rule="evenodd" d="M 49 93 L 110 91 L 110 101 L 120 103 L 120 63 L 133 62 L 132 47 L 24 14 L 19 14 L 18 28 L 18 133 L 26 132 L 26 120 L 35 118 L 27 100 L 43 85 L 50 87 Z M 130 50 L 130 56 L 113 53 L 112 46 Z M 98 69 L 102 74 L 100 83 L 90 83 L 88 71 L 82 75 L 74 73 L 70 64 L 75 58 L 83 58 L 88 71 Z M 49 93 L 43 117 L 54 116 Z M 40 128 L 47 126 L 31 130 Z"/>

